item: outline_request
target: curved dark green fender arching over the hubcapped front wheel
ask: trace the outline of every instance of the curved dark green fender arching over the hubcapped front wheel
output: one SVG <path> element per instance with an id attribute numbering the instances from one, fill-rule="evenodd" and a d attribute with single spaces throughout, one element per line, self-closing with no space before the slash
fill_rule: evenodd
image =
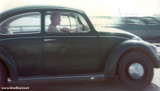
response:
<path id="1" fill-rule="evenodd" d="M 146 53 L 153 60 L 154 67 L 159 67 L 159 56 L 155 46 L 148 42 L 127 40 L 117 45 L 116 48 L 107 57 L 104 66 L 104 75 L 106 78 L 115 77 L 119 60 L 129 51 L 140 51 Z"/>

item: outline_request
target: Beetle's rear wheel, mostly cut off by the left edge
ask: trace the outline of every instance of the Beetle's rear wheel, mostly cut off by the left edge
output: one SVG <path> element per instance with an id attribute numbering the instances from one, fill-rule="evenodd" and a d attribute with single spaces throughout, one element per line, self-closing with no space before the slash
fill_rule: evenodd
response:
<path id="1" fill-rule="evenodd" d="M 7 83 L 6 70 L 5 70 L 4 65 L 2 63 L 0 63 L 0 87 L 6 86 L 6 83 Z"/>

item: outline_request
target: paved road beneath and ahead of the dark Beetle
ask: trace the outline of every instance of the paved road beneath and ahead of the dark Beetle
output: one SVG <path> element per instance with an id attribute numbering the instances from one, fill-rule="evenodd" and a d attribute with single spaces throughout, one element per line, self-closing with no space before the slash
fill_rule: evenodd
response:
<path id="1" fill-rule="evenodd" d="M 155 69 L 152 84 L 143 91 L 160 91 L 160 69 Z M 56 81 L 29 81 L 9 86 L 30 87 L 21 91 L 131 91 L 124 87 L 117 79 L 104 80 L 56 80 Z M 16 91 L 16 90 L 13 90 Z M 17 90 L 20 91 L 20 90 Z M 138 90 L 136 90 L 138 91 Z"/>

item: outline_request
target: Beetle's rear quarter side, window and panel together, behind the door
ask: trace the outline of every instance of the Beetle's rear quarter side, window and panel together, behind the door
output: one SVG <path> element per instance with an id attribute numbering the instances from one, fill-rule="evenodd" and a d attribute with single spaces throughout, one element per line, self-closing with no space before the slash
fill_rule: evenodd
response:
<path id="1" fill-rule="evenodd" d="M 42 74 L 43 39 L 41 14 L 25 12 L 8 17 L 0 24 L 1 45 L 14 58 L 20 77 Z"/>

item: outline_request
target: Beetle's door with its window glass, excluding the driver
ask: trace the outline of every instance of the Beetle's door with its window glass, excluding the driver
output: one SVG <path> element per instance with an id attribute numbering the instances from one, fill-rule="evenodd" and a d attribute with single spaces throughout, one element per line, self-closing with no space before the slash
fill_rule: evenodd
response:
<path id="1" fill-rule="evenodd" d="M 59 11 L 56 11 L 61 17 L 59 30 L 68 28 L 76 29 L 76 32 L 47 33 L 53 12 L 48 11 L 45 14 L 45 74 L 63 75 L 98 71 L 99 49 L 96 33 L 91 32 L 82 15 Z"/>

